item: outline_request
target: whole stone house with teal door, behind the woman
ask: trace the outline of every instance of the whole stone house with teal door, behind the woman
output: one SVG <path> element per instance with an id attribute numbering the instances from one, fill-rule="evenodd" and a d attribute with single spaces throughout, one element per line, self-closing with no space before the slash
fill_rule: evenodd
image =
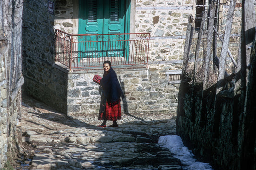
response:
<path id="1" fill-rule="evenodd" d="M 161 113 L 175 117 L 188 18 L 192 15 L 200 22 L 202 10 L 196 11 L 202 6 L 198 5 L 199 2 L 200 0 L 197 2 L 191 0 L 25 1 L 23 11 L 23 75 L 25 81 L 23 88 L 37 99 L 67 115 L 97 115 L 100 95 L 98 85 L 93 83 L 92 78 L 95 74 L 102 76 L 102 68 L 96 66 L 72 68 L 71 65 L 63 65 L 65 62 L 73 61 L 74 58 L 70 61 L 65 60 L 65 62 L 55 58 L 54 52 L 57 54 L 56 50 L 63 46 L 57 49 L 55 44 L 54 48 L 56 40 L 54 32 L 57 29 L 65 32 L 66 39 L 63 37 L 62 39 L 72 38 L 74 44 L 82 37 L 76 36 L 73 40 L 74 35 L 77 34 L 136 33 L 136 35 L 129 34 L 130 38 L 138 35 L 135 37 L 135 42 L 136 38 L 149 40 L 145 48 L 148 51 L 142 56 L 146 57 L 144 62 L 136 65 L 134 63 L 115 65 L 113 62 L 112 66 L 119 76 L 126 96 L 121 103 L 122 112 Z M 204 10 L 209 7 L 207 3 L 203 4 L 206 8 Z M 224 13 L 225 5 L 221 5 L 220 9 L 220 13 Z M 239 12 L 237 15 L 239 18 Z M 219 19 L 220 30 L 224 22 Z M 150 38 L 139 37 L 141 33 L 150 33 Z M 61 34 L 64 33 L 61 32 Z M 92 35 L 90 38 L 93 36 L 98 37 Z M 130 39 L 126 40 L 130 41 Z M 99 48 L 99 41 L 94 43 Z M 77 63 L 80 62 L 79 55 L 95 54 L 95 52 L 82 53 L 82 48 L 89 48 L 83 45 L 72 47 L 72 50 L 70 48 L 64 52 L 63 47 L 62 52 L 70 54 L 78 51 Z M 118 58 L 122 62 L 130 61 L 132 46 L 130 45 L 127 49 L 126 57 Z M 122 50 L 115 52 L 120 53 L 120 51 Z M 134 53 L 136 52 L 138 51 Z M 232 52 L 235 53 L 235 51 Z M 102 59 L 99 57 L 96 59 L 81 58 L 81 61 L 88 59 L 93 64 L 98 62 L 97 66 L 101 66 L 103 60 L 107 59 L 104 57 Z M 115 61 L 116 58 L 112 60 Z"/>

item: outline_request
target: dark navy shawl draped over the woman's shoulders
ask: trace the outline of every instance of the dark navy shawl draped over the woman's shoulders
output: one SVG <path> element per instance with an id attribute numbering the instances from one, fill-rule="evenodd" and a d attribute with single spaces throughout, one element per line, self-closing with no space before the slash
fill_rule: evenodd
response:
<path id="1" fill-rule="evenodd" d="M 116 72 L 112 67 L 108 72 L 104 72 L 103 78 L 100 80 L 99 91 L 111 105 L 117 104 L 120 102 L 120 97 L 124 97 Z"/>

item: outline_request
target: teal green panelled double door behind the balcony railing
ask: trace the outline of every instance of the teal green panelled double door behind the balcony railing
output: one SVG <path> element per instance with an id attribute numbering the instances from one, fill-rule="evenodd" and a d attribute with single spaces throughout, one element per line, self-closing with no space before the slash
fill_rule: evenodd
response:
<path id="1" fill-rule="evenodd" d="M 78 34 L 127 33 L 130 3 L 125 0 L 79 0 Z M 79 57 L 124 56 L 124 36 L 92 35 L 78 38 Z M 86 42 L 86 43 L 85 43 Z"/>

